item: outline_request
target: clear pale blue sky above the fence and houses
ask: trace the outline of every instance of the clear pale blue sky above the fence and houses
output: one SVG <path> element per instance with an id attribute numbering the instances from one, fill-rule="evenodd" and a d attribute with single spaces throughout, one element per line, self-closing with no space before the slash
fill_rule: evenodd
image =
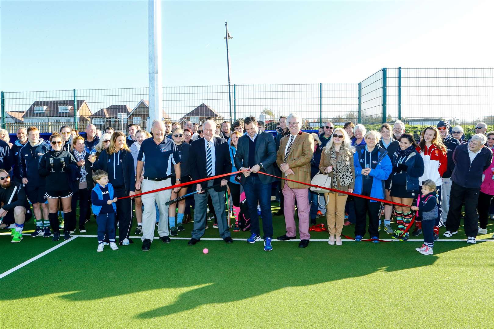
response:
<path id="1" fill-rule="evenodd" d="M 148 85 L 147 1 L 1 3 L 0 90 Z M 165 86 L 359 82 L 492 67 L 488 1 L 164 1 Z"/>

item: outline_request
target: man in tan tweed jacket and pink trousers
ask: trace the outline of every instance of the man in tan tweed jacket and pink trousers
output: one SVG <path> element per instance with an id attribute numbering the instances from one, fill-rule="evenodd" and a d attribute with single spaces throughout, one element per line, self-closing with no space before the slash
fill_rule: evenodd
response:
<path id="1" fill-rule="evenodd" d="M 311 134 L 300 130 L 302 118 L 298 114 L 288 115 L 288 129 L 290 134 L 280 141 L 276 163 L 282 171 L 282 177 L 302 183 L 310 183 L 310 160 L 314 153 L 314 138 Z M 298 232 L 300 234 L 299 248 L 309 244 L 309 191 L 308 186 L 300 183 L 281 181 L 283 196 L 285 197 L 284 212 L 287 233 L 278 237 L 278 240 L 296 238 L 295 227 L 295 199 L 297 200 Z"/>

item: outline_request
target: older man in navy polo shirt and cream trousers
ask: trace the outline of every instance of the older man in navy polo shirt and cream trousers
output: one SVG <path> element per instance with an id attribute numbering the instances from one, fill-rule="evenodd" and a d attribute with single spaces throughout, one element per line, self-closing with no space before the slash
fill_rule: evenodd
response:
<path id="1" fill-rule="evenodd" d="M 180 155 L 174 143 L 165 138 L 165 124 L 163 121 L 154 120 L 151 125 L 153 138 L 144 140 L 137 155 L 136 177 L 141 177 L 144 168 L 144 180 L 142 181 L 142 193 L 171 186 L 171 166 L 174 166 L 177 183 L 180 183 Z M 147 161 L 146 161 L 147 160 Z M 141 188 L 140 180 L 135 182 L 135 188 Z M 174 189 L 178 193 L 180 187 Z M 160 210 L 160 223 L 158 234 L 160 240 L 169 243 L 168 237 L 168 206 L 171 190 L 142 195 L 144 212 L 142 214 L 142 250 L 148 251 L 154 238 L 154 227 L 156 222 L 156 207 Z"/>

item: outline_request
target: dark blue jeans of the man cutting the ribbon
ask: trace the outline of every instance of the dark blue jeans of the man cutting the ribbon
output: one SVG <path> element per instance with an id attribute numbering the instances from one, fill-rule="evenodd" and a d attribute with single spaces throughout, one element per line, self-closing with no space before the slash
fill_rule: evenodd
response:
<path id="1" fill-rule="evenodd" d="M 250 217 L 250 233 L 260 234 L 257 201 L 261 207 L 263 239 L 273 237 L 273 216 L 271 214 L 271 183 L 263 184 L 259 177 L 248 176 L 244 182 L 244 191 Z"/>

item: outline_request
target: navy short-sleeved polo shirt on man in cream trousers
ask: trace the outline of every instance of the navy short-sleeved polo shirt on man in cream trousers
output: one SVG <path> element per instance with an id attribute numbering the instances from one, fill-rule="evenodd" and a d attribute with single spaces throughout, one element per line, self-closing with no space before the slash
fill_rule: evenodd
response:
<path id="1" fill-rule="evenodd" d="M 141 143 L 137 160 L 144 156 L 144 176 L 149 178 L 165 178 L 171 175 L 171 166 L 180 163 L 180 152 L 169 138 L 157 145 L 153 138 Z"/>

